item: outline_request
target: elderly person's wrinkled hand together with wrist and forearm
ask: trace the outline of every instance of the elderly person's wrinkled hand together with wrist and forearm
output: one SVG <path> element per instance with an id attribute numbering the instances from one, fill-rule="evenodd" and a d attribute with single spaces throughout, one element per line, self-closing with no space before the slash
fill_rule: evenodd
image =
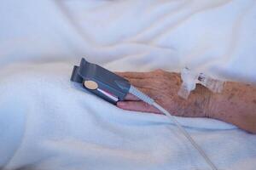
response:
<path id="1" fill-rule="evenodd" d="M 196 85 L 189 99 L 182 99 L 177 95 L 182 83 L 177 73 L 157 70 L 118 74 L 174 116 L 211 117 L 256 133 L 256 88 L 253 85 L 225 82 L 221 94 L 212 94 L 207 88 Z M 153 106 L 145 104 L 131 94 L 117 105 L 125 110 L 160 113 Z"/>

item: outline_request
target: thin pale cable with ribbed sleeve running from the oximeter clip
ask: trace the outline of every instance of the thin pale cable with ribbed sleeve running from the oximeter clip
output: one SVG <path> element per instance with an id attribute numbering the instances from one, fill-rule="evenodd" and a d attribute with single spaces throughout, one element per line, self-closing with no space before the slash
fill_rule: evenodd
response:
<path id="1" fill-rule="evenodd" d="M 183 135 L 189 140 L 189 142 L 195 147 L 195 149 L 198 150 L 198 152 L 201 154 L 201 156 L 204 158 L 204 160 L 207 162 L 207 164 L 212 168 L 212 170 L 218 170 L 218 168 L 213 164 L 213 162 L 210 160 L 210 158 L 204 152 L 204 150 L 202 150 L 201 147 L 195 143 L 195 140 L 192 139 L 192 137 L 189 135 L 189 133 L 181 126 L 181 124 L 179 122 L 177 122 L 175 117 L 172 116 L 172 114 L 169 111 L 166 111 L 162 106 L 158 105 L 154 101 L 154 99 L 151 99 L 147 94 L 143 94 L 141 91 L 139 91 L 134 86 L 131 86 L 131 88 L 129 89 L 129 92 L 131 94 L 135 95 L 138 99 L 142 99 L 148 105 L 153 105 L 155 108 L 157 108 L 163 114 L 165 114 L 168 118 L 170 118 L 171 121 L 175 123 L 178 130 L 181 133 L 183 133 Z"/>

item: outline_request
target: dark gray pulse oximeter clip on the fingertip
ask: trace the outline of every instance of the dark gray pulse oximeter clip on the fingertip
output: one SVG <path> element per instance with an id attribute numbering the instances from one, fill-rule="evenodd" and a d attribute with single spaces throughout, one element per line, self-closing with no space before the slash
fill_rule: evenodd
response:
<path id="1" fill-rule="evenodd" d="M 73 67 L 72 82 L 81 85 L 102 99 L 116 105 L 119 100 L 124 100 L 129 93 L 131 84 L 123 77 L 119 77 L 100 65 L 92 64 L 81 59 L 80 65 Z"/>

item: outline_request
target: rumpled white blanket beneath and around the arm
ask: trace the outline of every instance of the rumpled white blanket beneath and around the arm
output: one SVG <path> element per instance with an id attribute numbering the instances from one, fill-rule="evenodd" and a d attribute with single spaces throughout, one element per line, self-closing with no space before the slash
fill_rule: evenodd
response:
<path id="1" fill-rule="evenodd" d="M 210 169 L 166 116 L 123 111 L 69 81 L 85 57 L 112 71 L 256 82 L 256 2 L 0 2 L 0 168 Z M 182 118 L 219 169 L 255 169 L 256 136 Z"/>

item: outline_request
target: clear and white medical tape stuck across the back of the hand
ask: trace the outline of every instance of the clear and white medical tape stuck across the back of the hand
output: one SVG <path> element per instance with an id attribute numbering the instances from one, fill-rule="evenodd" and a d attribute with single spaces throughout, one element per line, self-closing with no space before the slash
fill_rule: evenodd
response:
<path id="1" fill-rule="evenodd" d="M 190 92 L 195 90 L 197 83 L 208 88 L 213 93 L 221 93 L 224 87 L 223 81 L 208 77 L 204 73 L 190 71 L 187 67 L 181 72 L 181 78 L 183 83 L 177 94 L 183 99 L 189 98 Z"/>

